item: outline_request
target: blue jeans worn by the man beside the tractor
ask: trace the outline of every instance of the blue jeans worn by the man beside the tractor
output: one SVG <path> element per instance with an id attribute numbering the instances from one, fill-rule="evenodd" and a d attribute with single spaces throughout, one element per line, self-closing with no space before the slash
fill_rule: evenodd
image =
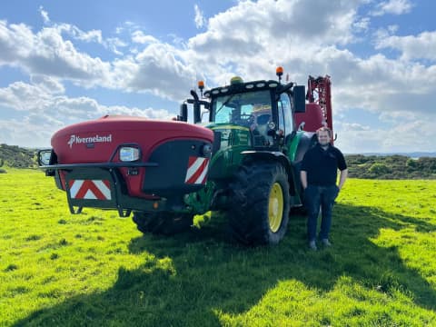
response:
<path id="1" fill-rule="evenodd" d="M 338 196 L 339 187 L 336 185 L 317 186 L 308 185 L 304 190 L 304 205 L 308 212 L 307 236 L 309 242 L 316 239 L 316 225 L 321 206 L 321 231 L 320 239 L 328 239 L 332 225 L 332 207 Z"/>

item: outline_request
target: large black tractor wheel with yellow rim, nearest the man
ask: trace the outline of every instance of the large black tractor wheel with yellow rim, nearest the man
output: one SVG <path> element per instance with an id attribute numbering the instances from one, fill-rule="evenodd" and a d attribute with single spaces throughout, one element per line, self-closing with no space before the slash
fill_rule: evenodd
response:
<path id="1" fill-rule="evenodd" d="M 231 184 L 233 241 L 256 246 L 282 240 L 289 220 L 289 182 L 280 163 L 243 165 Z"/>

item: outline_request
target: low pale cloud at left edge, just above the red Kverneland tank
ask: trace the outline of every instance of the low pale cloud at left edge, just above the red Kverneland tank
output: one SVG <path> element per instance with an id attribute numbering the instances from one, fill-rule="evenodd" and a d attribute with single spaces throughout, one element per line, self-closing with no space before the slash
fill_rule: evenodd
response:
<path id="1" fill-rule="evenodd" d="M 68 124 L 96 119 L 105 114 L 124 114 L 168 120 L 174 116 L 164 109 L 104 105 L 85 97 L 68 97 L 57 81 L 46 76 L 34 76 L 35 84 L 15 82 L 0 88 L 0 108 L 13 113 L 12 118 L 0 118 L 2 143 L 26 147 L 47 147 L 55 131 Z M 55 92 L 49 85 L 57 84 Z"/>

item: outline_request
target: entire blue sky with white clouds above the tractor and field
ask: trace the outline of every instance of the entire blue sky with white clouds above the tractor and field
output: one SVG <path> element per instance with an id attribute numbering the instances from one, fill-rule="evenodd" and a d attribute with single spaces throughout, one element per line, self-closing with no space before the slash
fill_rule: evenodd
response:
<path id="1" fill-rule="evenodd" d="M 105 114 L 171 119 L 200 79 L 332 79 L 347 154 L 435 152 L 436 2 L 0 2 L 0 144 Z"/>

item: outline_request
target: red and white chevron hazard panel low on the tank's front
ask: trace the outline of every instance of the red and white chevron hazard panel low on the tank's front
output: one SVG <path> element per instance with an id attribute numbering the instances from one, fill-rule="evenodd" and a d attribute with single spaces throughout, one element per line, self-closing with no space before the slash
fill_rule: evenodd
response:
<path id="1" fill-rule="evenodd" d="M 70 180 L 72 199 L 111 200 L 111 183 L 108 180 Z"/>

